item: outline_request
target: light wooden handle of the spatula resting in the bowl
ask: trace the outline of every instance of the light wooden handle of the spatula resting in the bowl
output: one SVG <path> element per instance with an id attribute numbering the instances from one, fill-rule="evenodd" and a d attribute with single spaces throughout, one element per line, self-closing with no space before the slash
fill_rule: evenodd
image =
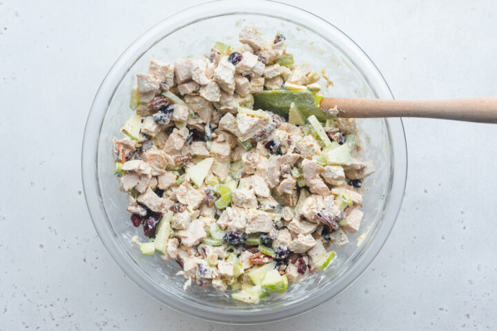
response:
<path id="1" fill-rule="evenodd" d="M 324 98 L 320 108 L 338 108 L 338 117 L 429 117 L 480 123 L 497 123 L 497 98 L 401 101 Z"/>

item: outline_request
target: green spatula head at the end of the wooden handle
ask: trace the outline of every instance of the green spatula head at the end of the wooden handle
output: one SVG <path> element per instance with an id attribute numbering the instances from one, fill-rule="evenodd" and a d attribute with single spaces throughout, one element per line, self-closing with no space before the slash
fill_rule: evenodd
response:
<path id="1" fill-rule="evenodd" d="M 291 103 L 295 103 L 304 118 L 314 115 L 319 121 L 326 121 L 320 110 L 320 97 L 309 90 L 266 90 L 253 94 L 254 109 L 269 110 L 286 119 L 289 118 Z"/>

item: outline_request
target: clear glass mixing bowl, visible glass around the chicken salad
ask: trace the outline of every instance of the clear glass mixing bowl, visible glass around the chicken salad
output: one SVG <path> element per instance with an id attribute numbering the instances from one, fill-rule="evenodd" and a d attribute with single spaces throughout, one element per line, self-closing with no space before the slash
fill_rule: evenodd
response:
<path id="1" fill-rule="evenodd" d="M 244 26 L 269 37 L 286 35 L 296 63 L 325 68 L 334 86 L 329 97 L 393 99 L 382 75 L 344 33 L 319 17 L 271 1 L 215 1 L 189 8 L 148 30 L 110 69 L 92 104 L 83 141 L 82 172 L 88 210 L 97 232 L 119 267 L 155 299 L 194 317 L 224 323 L 263 323 L 295 316 L 320 305 L 347 288 L 373 261 L 395 223 L 405 190 L 407 150 L 400 119 L 360 119 L 362 158 L 376 172 L 364 183 L 364 221 L 350 243 L 336 249 L 338 259 L 284 294 L 271 294 L 259 304 L 231 299 L 212 287 L 183 290 L 174 261 L 142 254 L 131 237 L 146 238 L 133 227 L 126 194 L 113 174 L 112 139 L 132 114 L 128 107 L 135 74 L 146 72 L 152 59 L 175 61 L 205 54 L 215 41 L 236 43 Z M 157 255 L 157 254 L 156 254 Z"/>

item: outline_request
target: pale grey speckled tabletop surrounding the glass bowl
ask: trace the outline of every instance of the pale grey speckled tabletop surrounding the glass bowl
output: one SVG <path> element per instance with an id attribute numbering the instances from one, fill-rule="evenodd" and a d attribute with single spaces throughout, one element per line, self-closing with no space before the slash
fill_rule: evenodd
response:
<path id="1" fill-rule="evenodd" d="M 0 330 L 231 330 L 170 310 L 110 259 L 81 194 L 88 109 L 142 32 L 199 1 L 0 0 Z M 496 1 L 289 1 L 373 59 L 397 99 L 497 96 Z M 238 330 L 497 325 L 497 126 L 405 119 L 396 226 L 347 290 Z"/>

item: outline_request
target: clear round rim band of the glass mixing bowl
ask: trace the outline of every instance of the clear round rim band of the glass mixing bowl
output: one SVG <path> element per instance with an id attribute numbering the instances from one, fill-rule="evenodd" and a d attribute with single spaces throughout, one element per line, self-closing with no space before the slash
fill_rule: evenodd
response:
<path id="1" fill-rule="evenodd" d="M 277 13 L 277 15 L 275 13 Z M 121 268 L 121 270 L 123 270 L 123 272 L 125 272 L 140 288 L 158 301 L 168 305 L 168 307 L 200 319 L 220 323 L 267 323 L 302 314 L 331 299 L 351 285 L 351 283 L 366 270 L 373 259 L 375 259 L 387 240 L 402 205 L 407 179 L 407 146 L 402 120 L 384 119 L 389 132 L 392 168 L 389 194 L 387 201 L 385 202 L 384 217 L 380 227 L 376 229 L 376 234 L 369 243 L 367 250 L 364 250 L 360 257 L 355 260 L 355 263 L 344 271 L 344 275 L 341 277 L 340 281 L 335 283 L 329 290 L 324 290 L 317 296 L 307 297 L 300 301 L 298 305 L 282 305 L 282 307 L 277 309 L 260 310 L 256 314 L 251 314 L 246 311 L 220 310 L 218 308 L 192 303 L 179 297 L 168 297 L 163 293 L 157 292 L 153 284 L 147 282 L 148 277 L 143 270 L 139 269 L 137 265 L 134 265 L 129 257 L 121 251 L 119 245 L 117 245 L 115 232 L 113 232 L 113 229 L 106 218 L 97 174 L 97 146 L 101 124 L 104 120 L 106 109 L 108 108 L 113 94 L 115 93 L 115 89 L 119 85 L 121 79 L 126 72 L 128 72 L 129 68 L 133 66 L 136 59 L 144 54 L 146 50 L 152 47 L 165 35 L 174 32 L 183 26 L 202 19 L 228 14 L 261 14 L 298 23 L 302 27 L 315 33 L 318 33 L 317 31 L 319 31 L 319 29 L 333 32 L 333 34 L 335 34 L 334 37 L 340 39 L 340 43 L 338 44 L 335 39 L 333 39 L 333 42 L 330 42 L 349 57 L 349 60 L 360 71 L 364 79 L 367 80 L 367 83 L 369 83 L 369 86 L 376 97 L 393 99 L 387 82 L 367 54 L 365 54 L 364 51 L 346 34 L 317 15 L 277 1 L 253 0 L 250 1 L 250 3 L 242 4 L 239 3 L 239 1 L 220 0 L 202 3 L 181 12 L 177 12 L 171 17 L 164 19 L 164 21 L 157 23 L 156 26 L 150 28 L 150 30 L 134 41 L 128 49 L 121 54 L 121 57 L 117 59 L 113 67 L 110 68 L 99 87 L 88 114 L 81 150 L 81 174 L 88 211 L 90 212 L 90 217 L 92 218 L 92 222 L 102 243 L 117 265 L 119 265 L 119 268 Z M 300 23 L 300 21 L 304 21 L 305 23 Z M 323 37 L 323 34 L 318 34 Z M 356 61 L 354 61 L 354 59 Z M 360 65 L 358 65 L 358 61 L 360 62 Z"/>

